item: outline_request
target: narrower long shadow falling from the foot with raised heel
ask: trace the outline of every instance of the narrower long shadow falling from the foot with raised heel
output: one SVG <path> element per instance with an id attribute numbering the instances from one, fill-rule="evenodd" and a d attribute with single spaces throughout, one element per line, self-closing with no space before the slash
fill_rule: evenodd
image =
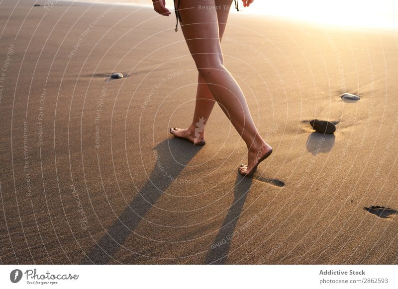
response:
<path id="1" fill-rule="evenodd" d="M 205 264 L 225 264 L 236 223 L 242 212 L 252 181 L 252 178 L 242 178 L 239 173 L 237 174 L 234 186 L 235 198 L 233 204 L 231 208 L 229 208 L 221 229 L 210 247 Z"/>

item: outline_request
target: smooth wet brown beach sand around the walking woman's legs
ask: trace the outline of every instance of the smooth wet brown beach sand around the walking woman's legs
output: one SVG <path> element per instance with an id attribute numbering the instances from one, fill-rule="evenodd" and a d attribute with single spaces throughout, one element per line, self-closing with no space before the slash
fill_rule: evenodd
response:
<path id="1" fill-rule="evenodd" d="M 173 16 L 33 3 L 0 4 L 2 264 L 398 263 L 397 31 L 231 15 L 225 66 L 274 151 L 242 178 L 219 107 L 204 146 L 169 134 L 197 81 Z"/>

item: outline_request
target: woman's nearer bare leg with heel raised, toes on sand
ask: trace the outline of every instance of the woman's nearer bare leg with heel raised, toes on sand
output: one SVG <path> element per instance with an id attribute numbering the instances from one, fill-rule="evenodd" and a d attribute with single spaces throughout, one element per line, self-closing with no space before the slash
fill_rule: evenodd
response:
<path id="1" fill-rule="evenodd" d="M 251 174 L 272 148 L 260 137 L 242 90 L 220 59 L 217 13 L 229 13 L 223 8 L 223 3 L 229 0 L 202 0 L 200 4 L 196 0 L 180 1 L 181 29 L 188 48 L 214 99 L 245 141 L 248 164 L 240 172 Z"/>

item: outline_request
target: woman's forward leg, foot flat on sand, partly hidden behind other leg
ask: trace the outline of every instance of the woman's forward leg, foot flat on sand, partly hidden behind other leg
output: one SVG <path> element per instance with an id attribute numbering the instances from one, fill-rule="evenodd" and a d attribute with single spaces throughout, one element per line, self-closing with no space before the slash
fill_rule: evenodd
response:
<path id="1" fill-rule="evenodd" d="M 231 2 L 232 0 L 224 0 L 222 3 L 223 9 L 228 10 Z M 220 9 L 216 9 L 216 11 L 219 41 L 221 42 L 229 13 L 223 13 Z M 224 64 L 222 54 L 220 55 L 220 61 L 222 64 Z M 207 86 L 206 80 L 200 73 L 198 74 L 198 89 L 196 93 L 195 111 L 192 123 L 188 129 L 176 128 L 172 129 L 171 133 L 174 134 L 176 137 L 186 138 L 192 141 L 194 144 L 205 144 L 204 127 L 208 121 L 208 118 L 210 117 L 211 111 L 213 110 L 215 99 L 209 87 Z"/>

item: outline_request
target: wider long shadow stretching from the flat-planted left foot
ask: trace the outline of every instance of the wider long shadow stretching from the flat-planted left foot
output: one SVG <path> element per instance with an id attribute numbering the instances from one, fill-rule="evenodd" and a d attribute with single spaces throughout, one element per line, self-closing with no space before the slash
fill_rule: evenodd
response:
<path id="1" fill-rule="evenodd" d="M 153 150 L 156 162 L 148 181 L 81 264 L 107 264 L 200 148 L 177 138 L 158 144 Z"/>

